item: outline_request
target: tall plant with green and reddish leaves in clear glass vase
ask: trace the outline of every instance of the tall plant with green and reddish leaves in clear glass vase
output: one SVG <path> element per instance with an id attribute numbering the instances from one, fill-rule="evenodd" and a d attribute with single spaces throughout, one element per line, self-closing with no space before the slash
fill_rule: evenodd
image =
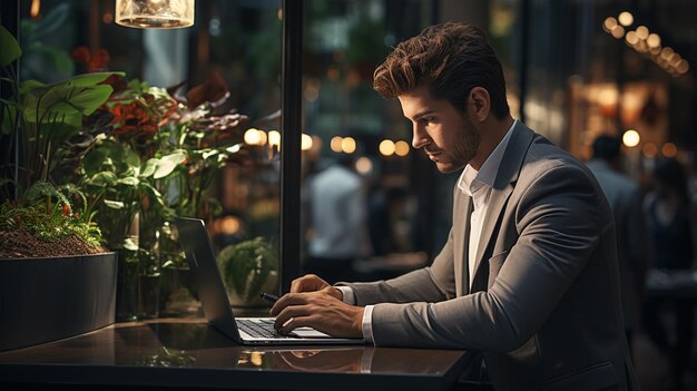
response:
<path id="1" fill-rule="evenodd" d="M 73 57 L 91 56 L 78 48 Z M 170 223 L 222 211 L 210 185 L 226 164 L 245 159 L 238 140 L 247 117 L 219 110 L 229 92 L 217 74 L 186 97 L 174 96 L 179 86 L 117 85 L 90 117 L 101 125 L 70 140 L 68 159 L 82 164 L 69 175 L 89 190 L 106 243 L 120 254 L 117 319 L 185 314 L 188 266 Z"/>

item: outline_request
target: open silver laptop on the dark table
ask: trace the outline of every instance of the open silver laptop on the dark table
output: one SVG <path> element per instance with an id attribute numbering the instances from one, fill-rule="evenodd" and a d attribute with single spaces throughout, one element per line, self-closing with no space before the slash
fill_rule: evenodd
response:
<path id="1" fill-rule="evenodd" d="M 274 317 L 235 317 L 204 222 L 177 217 L 179 243 L 186 254 L 208 323 L 243 345 L 363 344 L 362 339 L 334 338 L 311 328 L 289 335 L 274 330 Z"/>

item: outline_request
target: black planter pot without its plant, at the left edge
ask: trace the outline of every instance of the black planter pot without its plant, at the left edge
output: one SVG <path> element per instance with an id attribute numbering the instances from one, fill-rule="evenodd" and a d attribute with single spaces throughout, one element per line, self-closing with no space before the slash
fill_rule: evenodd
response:
<path id="1" fill-rule="evenodd" d="M 114 323 L 117 254 L 0 260 L 0 351 Z"/>

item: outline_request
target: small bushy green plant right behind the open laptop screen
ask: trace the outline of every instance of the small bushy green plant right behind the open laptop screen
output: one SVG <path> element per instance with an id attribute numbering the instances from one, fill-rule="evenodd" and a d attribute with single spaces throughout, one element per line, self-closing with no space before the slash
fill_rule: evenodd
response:
<path id="1" fill-rule="evenodd" d="M 278 290 L 278 257 L 263 237 L 220 250 L 217 257 L 230 304 L 237 307 L 267 306 L 262 292 Z"/>

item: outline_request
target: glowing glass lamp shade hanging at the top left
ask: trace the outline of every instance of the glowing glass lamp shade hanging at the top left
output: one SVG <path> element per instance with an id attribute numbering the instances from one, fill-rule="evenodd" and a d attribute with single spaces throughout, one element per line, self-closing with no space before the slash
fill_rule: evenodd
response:
<path id="1" fill-rule="evenodd" d="M 141 29 L 194 25 L 194 0 L 116 0 L 116 22 Z"/>

